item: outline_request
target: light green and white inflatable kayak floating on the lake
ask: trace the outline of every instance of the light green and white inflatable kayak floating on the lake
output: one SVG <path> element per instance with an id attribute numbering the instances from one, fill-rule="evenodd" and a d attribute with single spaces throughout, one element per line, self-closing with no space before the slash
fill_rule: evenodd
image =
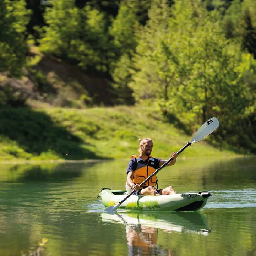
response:
<path id="1" fill-rule="evenodd" d="M 104 188 L 99 196 L 103 205 L 109 207 L 121 202 L 127 196 L 127 192 Z M 211 194 L 208 191 L 162 196 L 131 195 L 119 208 L 165 212 L 197 211 L 206 205 L 209 197 Z"/>

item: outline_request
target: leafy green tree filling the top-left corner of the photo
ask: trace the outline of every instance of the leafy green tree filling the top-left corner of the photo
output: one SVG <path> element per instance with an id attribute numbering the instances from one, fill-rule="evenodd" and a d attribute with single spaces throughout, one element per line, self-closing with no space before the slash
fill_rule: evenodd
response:
<path id="1" fill-rule="evenodd" d="M 24 37 L 29 12 L 25 0 L 0 2 L 0 72 L 19 77 L 26 63 L 27 43 Z"/>

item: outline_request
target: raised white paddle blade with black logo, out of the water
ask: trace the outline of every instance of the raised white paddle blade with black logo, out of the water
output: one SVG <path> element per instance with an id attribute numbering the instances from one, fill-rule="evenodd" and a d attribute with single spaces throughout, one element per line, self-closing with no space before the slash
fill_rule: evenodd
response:
<path id="1" fill-rule="evenodd" d="M 210 118 L 206 121 L 195 133 L 190 141 L 191 143 L 201 141 L 203 138 L 211 134 L 216 128 L 219 127 L 219 120 L 216 117 Z"/>

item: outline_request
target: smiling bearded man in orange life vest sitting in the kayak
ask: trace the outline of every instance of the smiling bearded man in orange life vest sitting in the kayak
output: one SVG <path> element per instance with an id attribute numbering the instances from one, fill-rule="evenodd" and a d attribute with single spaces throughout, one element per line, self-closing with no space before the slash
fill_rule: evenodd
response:
<path id="1" fill-rule="evenodd" d="M 131 160 L 127 167 L 126 190 L 135 190 L 135 195 L 171 195 L 176 194 L 173 187 L 169 186 L 165 189 L 156 189 L 157 177 L 154 175 L 149 181 L 142 186 L 139 186 L 148 176 L 150 176 L 156 169 L 161 167 L 166 161 L 160 158 L 152 157 L 151 151 L 153 149 L 153 141 L 150 138 L 143 138 L 139 140 L 140 148 L 139 156 L 131 156 Z M 171 166 L 176 163 L 177 152 L 171 153 L 173 160 L 166 166 Z M 132 190 L 131 190 L 132 189 Z M 130 194 L 130 193 L 129 193 Z"/>

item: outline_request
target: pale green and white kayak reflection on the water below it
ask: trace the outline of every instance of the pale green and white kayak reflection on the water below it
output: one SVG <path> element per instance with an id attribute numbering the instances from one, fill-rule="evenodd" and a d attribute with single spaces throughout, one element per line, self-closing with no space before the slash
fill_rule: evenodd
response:
<path id="1" fill-rule="evenodd" d="M 123 223 L 162 229 L 164 232 L 191 232 L 208 235 L 207 220 L 201 212 L 125 212 L 102 213 L 102 222 Z"/>

